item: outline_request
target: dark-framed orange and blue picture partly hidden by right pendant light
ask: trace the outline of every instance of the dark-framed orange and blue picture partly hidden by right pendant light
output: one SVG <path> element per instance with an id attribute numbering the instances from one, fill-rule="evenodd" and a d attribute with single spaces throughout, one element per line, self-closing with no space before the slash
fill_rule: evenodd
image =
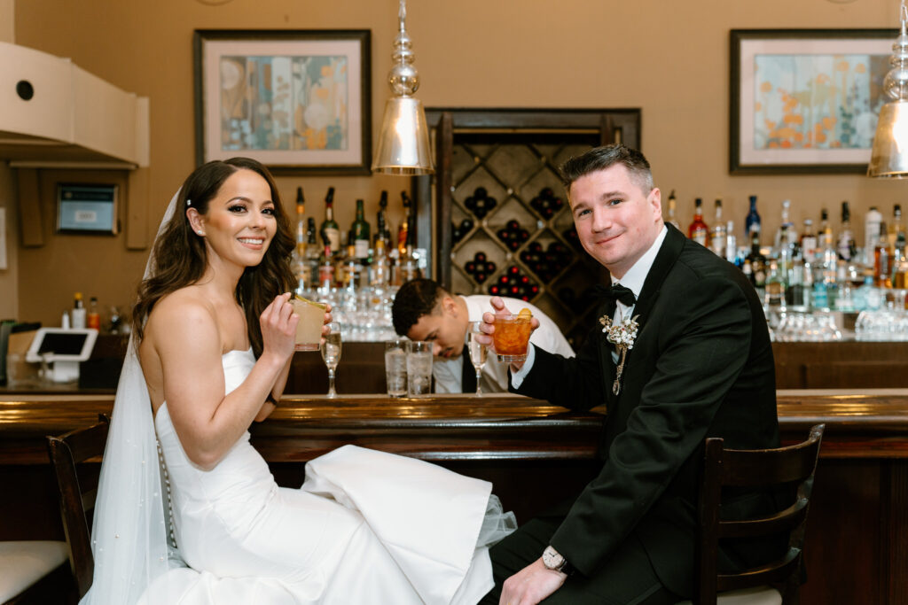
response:
<path id="1" fill-rule="evenodd" d="M 732 30 L 729 171 L 865 172 L 897 34 Z"/>

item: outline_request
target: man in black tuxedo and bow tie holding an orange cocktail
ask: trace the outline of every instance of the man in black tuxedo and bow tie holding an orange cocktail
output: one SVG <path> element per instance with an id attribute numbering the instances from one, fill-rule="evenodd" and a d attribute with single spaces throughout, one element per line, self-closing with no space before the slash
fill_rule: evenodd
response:
<path id="1" fill-rule="evenodd" d="M 562 166 L 562 179 L 580 242 L 613 288 L 577 357 L 531 346 L 510 366 L 511 390 L 575 410 L 605 404 L 602 467 L 558 510 L 492 548 L 496 588 L 482 602 L 675 603 L 693 590 L 704 439 L 779 444 L 765 316 L 737 268 L 663 222 L 639 151 L 588 151 Z M 500 299 L 493 307 L 504 312 Z M 483 319 L 494 331 L 492 314 Z M 770 493 L 725 504 L 779 508 Z M 769 561 L 783 546 L 726 545 L 720 569 Z"/>

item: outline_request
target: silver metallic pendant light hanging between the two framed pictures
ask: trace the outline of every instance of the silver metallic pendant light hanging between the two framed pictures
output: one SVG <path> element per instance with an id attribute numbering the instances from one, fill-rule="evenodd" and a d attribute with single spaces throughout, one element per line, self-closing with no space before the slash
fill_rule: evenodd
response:
<path id="1" fill-rule="evenodd" d="M 435 167 L 429 154 L 426 112 L 422 102 L 413 98 L 413 93 L 419 88 L 419 73 L 413 67 L 412 44 L 404 25 L 406 17 L 406 2 L 400 0 L 400 31 L 391 54 L 394 66 L 388 74 L 394 96 L 385 103 L 372 171 L 400 175 L 431 174 Z"/>

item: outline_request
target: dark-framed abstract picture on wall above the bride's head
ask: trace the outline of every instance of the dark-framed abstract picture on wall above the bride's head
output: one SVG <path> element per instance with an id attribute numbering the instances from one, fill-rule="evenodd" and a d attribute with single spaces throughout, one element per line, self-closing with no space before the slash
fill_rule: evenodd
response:
<path id="1" fill-rule="evenodd" d="M 196 162 L 369 174 L 369 30 L 196 30 Z"/>

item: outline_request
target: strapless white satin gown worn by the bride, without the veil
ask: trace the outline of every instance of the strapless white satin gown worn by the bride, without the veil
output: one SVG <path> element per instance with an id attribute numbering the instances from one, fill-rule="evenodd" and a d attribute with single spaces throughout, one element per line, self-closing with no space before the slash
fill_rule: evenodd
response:
<path id="1" fill-rule="evenodd" d="M 229 393 L 255 358 L 222 362 Z M 346 445 L 307 464 L 301 489 L 283 488 L 248 432 L 204 471 L 166 403 L 154 426 L 188 567 L 154 581 L 143 603 L 475 603 L 492 587 L 488 544 L 515 523 L 488 482 Z"/>

